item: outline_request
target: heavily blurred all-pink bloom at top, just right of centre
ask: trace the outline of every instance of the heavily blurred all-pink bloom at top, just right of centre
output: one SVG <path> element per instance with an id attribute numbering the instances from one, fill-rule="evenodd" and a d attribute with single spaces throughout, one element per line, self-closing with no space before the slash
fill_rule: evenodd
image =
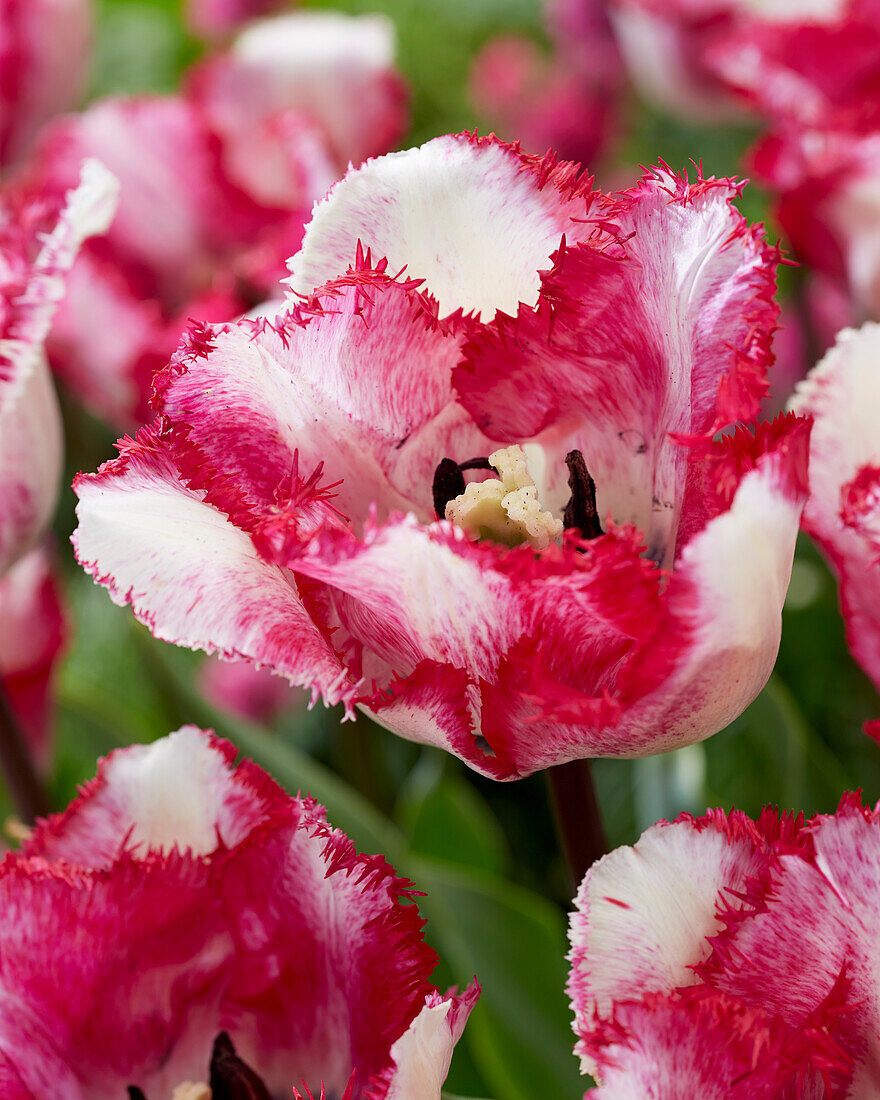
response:
<path id="1" fill-rule="evenodd" d="M 493 40 L 474 61 L 471 98 L 503 136 L 592 165 L 619 127 L 617 47 L 602 3 L 557 3 L 547 16 L 553 55 L 530 38 Z"/>

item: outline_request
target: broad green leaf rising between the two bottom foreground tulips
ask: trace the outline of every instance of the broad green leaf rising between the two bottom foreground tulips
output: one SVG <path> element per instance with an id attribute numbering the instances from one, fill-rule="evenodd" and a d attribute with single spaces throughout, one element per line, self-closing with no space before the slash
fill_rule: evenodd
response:
<path id="1" fill-rule="evenodd" d="M 495 876 L 413 858 L 427 891 L 428 939 L 454 974 L 476 975 L 483 993 L 464 1031 L 490 1089 L 505 1100 L 580 1097 L 565 997 L 568 942 L 559 910 Z"/>

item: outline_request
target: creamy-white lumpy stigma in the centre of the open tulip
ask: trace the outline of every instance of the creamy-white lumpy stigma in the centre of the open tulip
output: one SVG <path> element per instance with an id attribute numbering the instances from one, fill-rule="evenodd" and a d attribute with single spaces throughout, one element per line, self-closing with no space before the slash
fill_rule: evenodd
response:
<path id="1" fill-rule="evenodd" d="M 561 538 L 562 521 L 541 508 L 522 448 L 515 444 L 493 451 L 488 461 L 501 480 L 472 482 L 461 496 L 449 502 L 446 518 L 470 535 L 508 547 L 528 542 L 536 550 L 544 550 Z"/>

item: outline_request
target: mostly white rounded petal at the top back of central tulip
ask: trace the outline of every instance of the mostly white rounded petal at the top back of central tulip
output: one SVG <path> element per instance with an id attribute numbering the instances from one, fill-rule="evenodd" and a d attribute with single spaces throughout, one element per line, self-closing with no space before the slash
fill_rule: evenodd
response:
<path id="1" fill-rule="evenodd" d="M 590 178 L 494 138 L 448 134 L 349 172 L 319 202 L 290 261 L 298 294 L 341 275 L 358 243 L 425 279 L 441 317 L 534 306 L 563 233 L 591 231 Z"/>

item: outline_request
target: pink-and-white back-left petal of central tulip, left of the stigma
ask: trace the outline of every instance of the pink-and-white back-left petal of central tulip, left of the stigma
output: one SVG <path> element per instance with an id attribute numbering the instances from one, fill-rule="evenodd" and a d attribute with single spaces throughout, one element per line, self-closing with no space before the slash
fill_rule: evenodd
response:
<path id="1" fill-rule="evenodd" d="M 198 330 L 155 380 L 154 405 L 175 425 L 178 465 L 205 486 L 229 482 L 265 510 L 284 503 L 292 471 L 319 464 L 333 506 L 361 525 L 414 505 L 433 518 L 438 462 L 487 453 L 455 409 L 460 337 L 417 285 L 356 270 L 273 321 Z M 279 497 L 279 492 L 282 496 Z M 208 488 L 209 498 L 226 507 Z"/>

